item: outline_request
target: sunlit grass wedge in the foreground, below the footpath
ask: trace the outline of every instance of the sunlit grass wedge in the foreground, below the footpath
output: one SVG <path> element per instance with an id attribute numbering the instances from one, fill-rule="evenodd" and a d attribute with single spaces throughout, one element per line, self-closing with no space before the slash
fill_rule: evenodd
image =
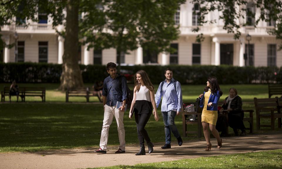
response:
<path id="1" fill-rule="evenodd" d="M 255 153 L 240 153 L 231 155 L 221 155 L 212 157 L 200 157 L 194 159 L 183 159 L 177 161 L 167 161 L 160 163 L 147 163 L 137 165 L 118 165 L 113 167 L 103 167 L 104 169 L 165 169 L 165 168 L 248 168 L 248 169 L 280 169 L 282 168 L 282 150 L 261 151 Z"/>

